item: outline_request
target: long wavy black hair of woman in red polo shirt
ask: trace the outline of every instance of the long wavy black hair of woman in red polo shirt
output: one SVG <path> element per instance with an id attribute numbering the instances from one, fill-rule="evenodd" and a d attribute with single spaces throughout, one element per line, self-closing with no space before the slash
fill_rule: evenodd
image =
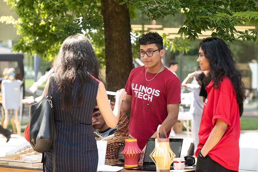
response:
<path id="1" fill-rule="evenodd" d="M 235 89 L 237 103 L 243 102 L 246 98 L 244 83 L 229 46 L 222 39 L 214 37 L 203 39 L 200 47 L 209 62 L 209 72 L 205 79 L 205 85 L 208 85 L 212 80 L 214 82 L 213 88 L 218 89 L 223 76 L 229 77 Z"/>

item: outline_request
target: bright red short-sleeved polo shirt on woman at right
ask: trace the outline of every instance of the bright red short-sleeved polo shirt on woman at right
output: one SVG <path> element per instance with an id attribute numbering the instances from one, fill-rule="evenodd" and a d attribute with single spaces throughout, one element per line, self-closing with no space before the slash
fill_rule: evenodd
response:
<path id="1" fill-rule="evenodd" d="M 216 119 L 221 119 L 228 124 L 228 128 L 208 155 L 223 167 L 238 171 L 240 118 L 235 91 L 228 77 L 223 78 L 217 90 L 212 87 L 212 84 L 213 81 L 205 88 L 208 97 L 203 106 L 199 144 L 195 156 L 197 157 L 199 150 L 208 139 L 216 124 Z"/>

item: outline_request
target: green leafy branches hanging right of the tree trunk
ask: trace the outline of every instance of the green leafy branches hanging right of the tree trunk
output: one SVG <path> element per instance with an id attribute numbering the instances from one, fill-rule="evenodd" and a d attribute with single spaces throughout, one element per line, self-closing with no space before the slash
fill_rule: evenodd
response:
<path id="1" fill-rule="evenodd" d="M 198 38 L 201 31 L 212 29 L 211 36 L 218 36 L 226 41 L 242 38 L 243 40 L 257 39 L 257 31 L 241 32 L 234 26 L 246 23 L 255 23 L 258 27 L 256 0 L 122 0 L 120 4 L 135 7 L 148 17 L 146 20 L 157 20 L 167 15 L 178 13 L 181 8 L 184 12 L 184 26 L 179 34 L 190 40 Z"/>

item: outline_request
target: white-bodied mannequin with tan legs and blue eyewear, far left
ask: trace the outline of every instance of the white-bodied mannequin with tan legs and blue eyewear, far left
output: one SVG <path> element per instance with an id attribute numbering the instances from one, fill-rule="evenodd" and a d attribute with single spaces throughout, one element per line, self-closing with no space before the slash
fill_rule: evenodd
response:
<path id="1" fill-rule="evenodd" d="M 9 79 L 2 81 L 2 93 L 3 93 L 3 107 L 5 110 L 4 128 L 7 128 L 9 123 L 8 110 L 10 110 L 10 119 L 13 126 L 13 132 L 21 134 L 20 123 L 18 120 L 18 109 L 20 106 L 20 80 L 15 79 L 15 69 L 10 68 L 7 72 Z M 15 112 L 15 119 L 13 119 L 13 110 Z"/>

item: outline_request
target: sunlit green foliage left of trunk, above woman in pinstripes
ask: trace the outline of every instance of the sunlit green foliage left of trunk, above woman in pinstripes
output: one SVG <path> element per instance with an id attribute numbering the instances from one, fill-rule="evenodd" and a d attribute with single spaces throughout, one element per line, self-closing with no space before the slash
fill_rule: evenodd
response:
<path id="1" fill-rule="evenodd" d="M 83 29 L 102 29 L 100 3 L 87 0 L 6 0 L 18 14 L 1 17 L 1 22 L 15 24 L 19 41 L 13 50 L 36 53 L 44 59 L 54 59 L 61 43 Z M 80 18 L 79 18 L 80 17 Z"/>

